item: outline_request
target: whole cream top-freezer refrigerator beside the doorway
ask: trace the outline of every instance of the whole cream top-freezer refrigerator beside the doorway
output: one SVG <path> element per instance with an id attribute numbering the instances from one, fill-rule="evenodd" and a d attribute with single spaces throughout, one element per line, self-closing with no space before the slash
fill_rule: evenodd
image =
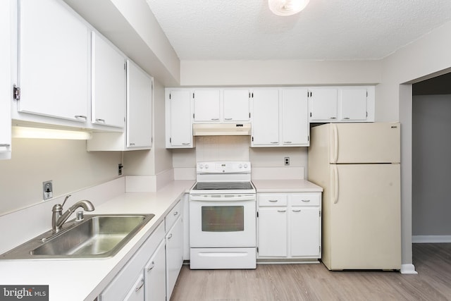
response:
<path id="1" fill-rule="evenodd" d="M 400 123 L 318 125 L 308 158 L 323 188 L 323 264 L 400 269 Z"/>

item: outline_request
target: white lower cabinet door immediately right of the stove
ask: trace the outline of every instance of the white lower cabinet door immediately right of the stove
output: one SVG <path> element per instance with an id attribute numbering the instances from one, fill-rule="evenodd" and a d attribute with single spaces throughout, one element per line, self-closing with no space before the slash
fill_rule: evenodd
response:
<path id="1" fill-rule="evenodd" d="M 259 257 L 286 257 L 287 208 L 259 208 Z"/>

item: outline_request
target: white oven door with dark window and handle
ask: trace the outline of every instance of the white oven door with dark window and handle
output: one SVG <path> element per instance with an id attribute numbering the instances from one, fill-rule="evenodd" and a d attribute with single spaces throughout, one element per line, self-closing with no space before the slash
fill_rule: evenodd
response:
<path id="1" fill-rule="evenodd" d="M 256 200 L 190 195 L 190 247 L 256 247 Z"/>

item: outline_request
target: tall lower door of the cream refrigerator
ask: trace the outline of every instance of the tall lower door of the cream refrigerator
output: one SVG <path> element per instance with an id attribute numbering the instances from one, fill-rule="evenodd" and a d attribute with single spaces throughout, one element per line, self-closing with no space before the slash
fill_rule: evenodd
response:
<path id="1" fill-rule="evenodd" d="M 400 164 L 330 166 L 323 251 L 329 269 L 400 269 Z"/>

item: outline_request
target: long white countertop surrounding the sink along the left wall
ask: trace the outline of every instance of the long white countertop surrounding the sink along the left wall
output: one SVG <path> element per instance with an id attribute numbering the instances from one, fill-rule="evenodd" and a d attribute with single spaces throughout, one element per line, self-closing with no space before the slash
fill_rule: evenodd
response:
<path id="1" fill-rule="evenodd" d="M 96 207 L 93 214 L 155 214 L 114 257 L 1 260 L 0 284 L 49 285 L 50 301 L 94 300 L 193 183 L 177 180 L 158 192 L 127 192 Z"/>

